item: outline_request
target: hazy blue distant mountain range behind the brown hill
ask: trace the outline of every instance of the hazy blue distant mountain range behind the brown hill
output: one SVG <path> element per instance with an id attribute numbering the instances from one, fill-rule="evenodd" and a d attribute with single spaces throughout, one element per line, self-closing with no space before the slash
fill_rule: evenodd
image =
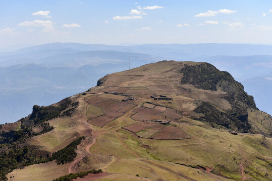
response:
<path id="1" fill-rule="evenodd" d="M 29 114 L 32 105 L 83 92 L 99 77 L 129 69 L 129 64 L 134 68 L 160 60 L 205 61 L 227 70 L 254 96 L 258 108 L 272 114 L 267 106 L 272 101 L 272 46 L 50 43 L 0 53 L 0 123 Z"/>

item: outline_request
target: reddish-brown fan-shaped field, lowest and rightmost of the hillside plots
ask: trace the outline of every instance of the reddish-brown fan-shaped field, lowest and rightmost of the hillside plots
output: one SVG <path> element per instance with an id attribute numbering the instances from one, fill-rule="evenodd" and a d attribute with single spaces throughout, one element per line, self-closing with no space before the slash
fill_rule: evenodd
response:
<path id="1" fill-rule="evenodd" d="M 153 139 L 186 139 L 191 138 L 182 129 L 175 126 L 167 126 L 152 136 Z"/>

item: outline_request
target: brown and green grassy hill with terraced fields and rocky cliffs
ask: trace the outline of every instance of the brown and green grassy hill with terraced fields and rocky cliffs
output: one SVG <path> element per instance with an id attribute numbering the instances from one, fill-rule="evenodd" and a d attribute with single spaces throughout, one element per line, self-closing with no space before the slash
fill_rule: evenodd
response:
<path id="1" fill-rule="evenodd" d="M 15 166 L 10 180 L 52 180 L 92 169 L 110 180 L 272 179 L 272 139 L 266 137 L 271 117 L 228 72 L 207 63 L 162 61 L 108 74 L 82 94 L 34 106 L 29 117 L 3 125 L 1 133 L 23 129 L 18 125 L 39 130 L 41 123 L 53 129 L 10 141 L 67 160 L 57 164 L 58 158 L 45 156 L 40 164 Z M 73 151 L 78 138 L 70 162 L 66 150 Z"/>

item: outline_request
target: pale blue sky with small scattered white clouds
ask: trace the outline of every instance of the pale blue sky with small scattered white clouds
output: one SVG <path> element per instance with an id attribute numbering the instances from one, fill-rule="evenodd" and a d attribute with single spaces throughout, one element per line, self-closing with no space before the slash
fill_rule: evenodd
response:
<path id="1" fill-rule="evenodd" d="M 272 1 L 0 0 L 0 48 L 52 42 L 272 44 Z"/>

